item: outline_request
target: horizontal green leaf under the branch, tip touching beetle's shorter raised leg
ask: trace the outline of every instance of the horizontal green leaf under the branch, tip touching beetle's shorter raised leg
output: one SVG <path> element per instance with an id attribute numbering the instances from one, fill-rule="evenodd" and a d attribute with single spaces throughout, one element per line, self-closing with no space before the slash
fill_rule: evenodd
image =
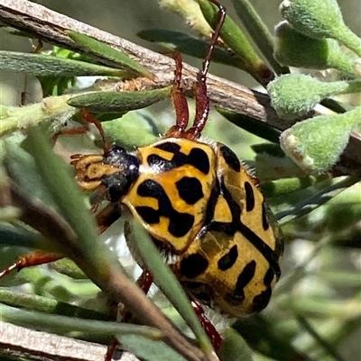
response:
<path id="1" fill-rule="evenodd" d="M 170 95 L 171 86 L 138 92 L 95 92 L 73 96 L 68 104 L 94 113 L 123 113 L 158 103 Z"/>

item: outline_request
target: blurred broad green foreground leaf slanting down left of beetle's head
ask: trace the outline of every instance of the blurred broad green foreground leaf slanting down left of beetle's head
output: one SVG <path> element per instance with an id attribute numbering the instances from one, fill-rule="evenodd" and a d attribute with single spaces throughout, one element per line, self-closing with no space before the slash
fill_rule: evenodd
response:
<path id="1" fill-rule="evenodd" d="M 81 260 L 82 265 L 88 269 L 97 269 L 97 274 L 93 272 L 94 276 L 106 278 L 110 273 L 110 264 L 122 270 L 116 256 L 98 238 L 94 216 L 85 208 L 83 194 L 70 175 L 69 167 L 52 152 L 48 140 L 39 130 L 33 128 L 29 130 L 28 149 L 60 214 L 78 236 L 75 240 L 67 239 L 67 243 L 64 243 L 65 239 L 54 238 L 54 240 L 60 242 L 69 257 Z M 84 270 L 83 267 L 82 269 Z"/>

